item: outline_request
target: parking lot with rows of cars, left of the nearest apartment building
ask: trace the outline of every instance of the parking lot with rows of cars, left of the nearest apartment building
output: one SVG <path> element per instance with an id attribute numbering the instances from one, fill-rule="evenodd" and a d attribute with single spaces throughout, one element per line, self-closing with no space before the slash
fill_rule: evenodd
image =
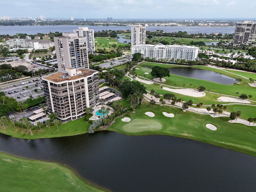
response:
<path id="1" fill-rule="evenodd" d="M 35 92 L 35 89 L 37 89 L 38 91 Z M 2 88 L 0 91 L 5 92 L 6 96 L 13 97 L 17 101 L 21 102 L 26 101 L 30 95 L 32 95 L 33 98 L 37 98 L 38 96 L 44 96 L 42 82 L 38 79 L 30 79 L 26 82 L 22 82 L 22 84 L 17 83 L 7 88 Z"/>

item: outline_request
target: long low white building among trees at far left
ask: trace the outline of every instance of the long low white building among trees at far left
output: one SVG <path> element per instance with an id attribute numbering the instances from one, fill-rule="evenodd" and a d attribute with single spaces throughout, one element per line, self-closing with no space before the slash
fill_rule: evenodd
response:
<path id="1" fill-rule="evenodd" d="M 50 40 L 34 40 L 13 38 L 6 41 L 9 46 L 16 46 L 24 49 L 49 49 L 54 46 L 54 42 Z"/>

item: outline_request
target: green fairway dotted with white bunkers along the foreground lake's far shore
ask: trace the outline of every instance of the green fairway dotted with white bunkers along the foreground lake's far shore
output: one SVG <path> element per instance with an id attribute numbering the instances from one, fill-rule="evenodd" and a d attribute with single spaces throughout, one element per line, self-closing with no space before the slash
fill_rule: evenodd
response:
<path id="1" fill-rule="evenodd" d="M 153 112 L 155 116 L 149 117 L 144 114 L 145 112 Z M 166 117 L 162 112 L 173 113 L 175 116 L 174 118 Z M 131 118 L 131 121 L 123 122 L 122 118 L 124 117 Z M 107 130 L 131 136 L 151 134 L 178 136 L 256 156 L 256 127 L 231 124 L 228 120 L 230 120 L 228 117 L 212 118 L 209 115 L 183 112 L 181 109 L 169 106 L 156 105 L 152 107 L 148 102 L 144 102 L 135 113 L 116 119 L 115 123 Z M 154 124 L 156 124 L 155 121 L 158 121 L 162 124 L 162 129 L 158 125 L 158 130 L 147 130 L 145 127 L 151 121 L 154 121 Z M 208 123 L 215 125 L 218 129 L 212 131 L 206 128 Z M 132 128 L 127 129 L 130 126 Z"/>

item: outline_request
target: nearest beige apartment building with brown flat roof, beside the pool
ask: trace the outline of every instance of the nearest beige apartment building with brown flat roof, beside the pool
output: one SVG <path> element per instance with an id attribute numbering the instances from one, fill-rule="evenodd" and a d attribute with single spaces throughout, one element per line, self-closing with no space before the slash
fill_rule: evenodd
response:
<path id="1" fill-rule="evenodd" d="M 42 78 L 46 107 L 62 122 L 85 116 L 85 108 L 100 103 L 98 71 L 66 68 Z"/>

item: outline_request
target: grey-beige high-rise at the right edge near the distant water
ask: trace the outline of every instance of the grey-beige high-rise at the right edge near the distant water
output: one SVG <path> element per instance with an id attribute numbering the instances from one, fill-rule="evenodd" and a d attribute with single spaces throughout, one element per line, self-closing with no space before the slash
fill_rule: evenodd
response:
<path id="1" fill-rule="evenodd" d="M 236 23 L 234 45 L 250 45 L 256 40 L 256 23 L 244 21 Z"/>

